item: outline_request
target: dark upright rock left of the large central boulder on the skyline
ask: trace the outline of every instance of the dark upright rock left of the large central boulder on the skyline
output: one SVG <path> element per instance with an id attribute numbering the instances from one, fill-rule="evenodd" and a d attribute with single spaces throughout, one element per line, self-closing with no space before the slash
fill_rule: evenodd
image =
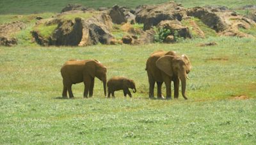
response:
<path id="1" fill-rule="evenodd" d="M 118 5 L 113 6 L 108 15 L 111 17 L 112 22 L 115 24 L 122 24 L 127 22 L 124 11 Z"/>

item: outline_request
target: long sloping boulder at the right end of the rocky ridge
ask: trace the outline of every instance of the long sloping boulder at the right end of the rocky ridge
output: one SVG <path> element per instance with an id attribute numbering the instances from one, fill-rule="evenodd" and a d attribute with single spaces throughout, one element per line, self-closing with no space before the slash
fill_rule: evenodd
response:
<path id="1" fill-rule="evenodd" d="M 253 37 L 239 31 L 240 28 L 250 29 L 255 22 L 250 18 L 222 7 L 195 7 L 187 11 L 188 16 L 200 18 L 221 36 Z"/>

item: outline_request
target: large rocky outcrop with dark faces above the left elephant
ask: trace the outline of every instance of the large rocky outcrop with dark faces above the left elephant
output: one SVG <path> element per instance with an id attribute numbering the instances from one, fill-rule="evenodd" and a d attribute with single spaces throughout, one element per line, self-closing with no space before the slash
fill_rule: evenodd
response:
<path id="1" fill-rule="evenodd" d="M 88 46 L 110 44 L 113 36 L 109 32 L 112 27 L 111 18 L 106 13 L 100 13 L 91 18 L 75 18 L 75 20 L 61 20 L 59 17 L 38 22 L 37 25 L 54 25 L 58 27 L 52 31 L 49 38 L 45 38 L 38 31 L 32 31 L 36 43 L 43 46 Z"/>

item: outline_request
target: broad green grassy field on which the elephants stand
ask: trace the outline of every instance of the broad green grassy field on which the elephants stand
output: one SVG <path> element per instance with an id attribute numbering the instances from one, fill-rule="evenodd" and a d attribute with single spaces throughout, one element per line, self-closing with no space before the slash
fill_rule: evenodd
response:
<path id="1" fill-rule="evenodd" d="M 218 45 L 198 46 L 210 41 Z M 254 46 L 255 39 L 225 37 L 172 45 L 1 46 L 0 144 L 254 144 Z M 160 49 L 189 56 L 189 100 L 148 100 L 145 62 Z M 60 67 L 68 59 L 100 60 L 108 78 L 134 79 L 138 92 L 105 99 L 95 79 L 91 99 L 83 99 L 83 83 L 72 86 L 76 99 L 58 99 Z M 250 99 L 230 99 L 237 95 Z"/>

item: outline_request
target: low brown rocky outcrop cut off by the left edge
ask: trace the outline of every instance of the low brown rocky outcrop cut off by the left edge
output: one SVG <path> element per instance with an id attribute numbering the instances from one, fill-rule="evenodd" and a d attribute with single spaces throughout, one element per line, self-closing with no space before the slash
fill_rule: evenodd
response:
<path id="1" fill-rule="evenodd" d="M 25 28 L 24 22 L 20 21 L 0 25 L 0 46 L 17 45 L 17 39 L 14 38 L 14 35 Z"/>

